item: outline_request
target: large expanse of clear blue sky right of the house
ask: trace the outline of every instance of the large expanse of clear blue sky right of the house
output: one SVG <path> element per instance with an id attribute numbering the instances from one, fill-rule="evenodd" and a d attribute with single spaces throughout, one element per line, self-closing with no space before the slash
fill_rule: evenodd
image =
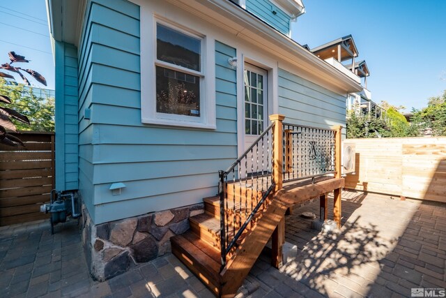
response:
<path id="1" fill-rule="evenodd" d="M 304 0 L 293 39 L 310 48 L 351 34 L 374 101 L 420 108 L 446 89 L 446 1 Z M 357 60 L 358 61 L 358 60 Z"/>

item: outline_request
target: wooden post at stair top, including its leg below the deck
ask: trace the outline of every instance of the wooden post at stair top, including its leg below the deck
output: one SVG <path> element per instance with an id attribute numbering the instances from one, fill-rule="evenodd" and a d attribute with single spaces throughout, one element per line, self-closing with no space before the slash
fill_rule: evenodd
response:
<path id="1" fill-rule="evenodd" d="M 273 163 L 272 171 L 274 182 L 276 184 L 275 191 L 282 189 L 283 185 L 283 170 L 284 170 L 284 126 L 283 121 L 285 119 L 284 115 L 272 114 L 270 115 L 270 120 L 275 124 L 273 128 L 274 132 L 274 144 L 273 150 Z M 282 266 L 282 246 L 285 241 L 285 218 L 279 222 L 279 225 L 275 228 L 272 233 L 272 255 L 271 255 L 271 265 L 279 268 Z"/>

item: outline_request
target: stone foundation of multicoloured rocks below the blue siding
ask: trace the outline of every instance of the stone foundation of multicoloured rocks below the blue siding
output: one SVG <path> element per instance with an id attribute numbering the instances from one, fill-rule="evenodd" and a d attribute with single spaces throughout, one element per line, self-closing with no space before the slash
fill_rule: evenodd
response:
<path id="1" fill-rule="evenodd" d="M 170 238 L 187 231 L 189 217 L 203 212 L 201 203 L 94 225 L 82 204 L 82 244 L 91 276 L 105 281 L 171 252 Z"/>

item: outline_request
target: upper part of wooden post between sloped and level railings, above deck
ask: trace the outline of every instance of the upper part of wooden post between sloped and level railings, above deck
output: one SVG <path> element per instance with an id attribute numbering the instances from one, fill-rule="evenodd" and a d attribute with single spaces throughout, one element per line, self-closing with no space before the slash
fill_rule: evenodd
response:
<path id="1" fill-rule="evenodd" d="M 272 162 L 272 172 L 273 172 L 273 181 L 276 184 L 275 191 L 279 191 L 282 189 L 283 182 L 283 170 L 284 170 L 284 126 L 283 121 L 285 119 L 284 115 L 281 114 L 272 114 L 270 115 L 270 120 L 274 123 L 274 127 L 272 129 L 274 133 L 274 147 L 272 147 L 274 159 Z"/>

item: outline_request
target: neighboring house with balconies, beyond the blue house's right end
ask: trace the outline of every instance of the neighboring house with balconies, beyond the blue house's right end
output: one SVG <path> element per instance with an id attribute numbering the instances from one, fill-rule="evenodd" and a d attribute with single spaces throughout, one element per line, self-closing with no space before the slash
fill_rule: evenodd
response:
<path id="1" fill-rule="evenodd" d="M 358 114 L 368 114 L 376 118 L 385 114 L 385 110 L 371 100 L 371 91 L 367 89 L 369 68 L 365 60 L 355 62 L 359 52 L 351 35 L 314 47 L 311 52 L 362 85 L 362 91 L 348 94 L 346 98 L 347 111 L 355 110 Z M 350 62 L 350 64 L 345 62 Z"/>

